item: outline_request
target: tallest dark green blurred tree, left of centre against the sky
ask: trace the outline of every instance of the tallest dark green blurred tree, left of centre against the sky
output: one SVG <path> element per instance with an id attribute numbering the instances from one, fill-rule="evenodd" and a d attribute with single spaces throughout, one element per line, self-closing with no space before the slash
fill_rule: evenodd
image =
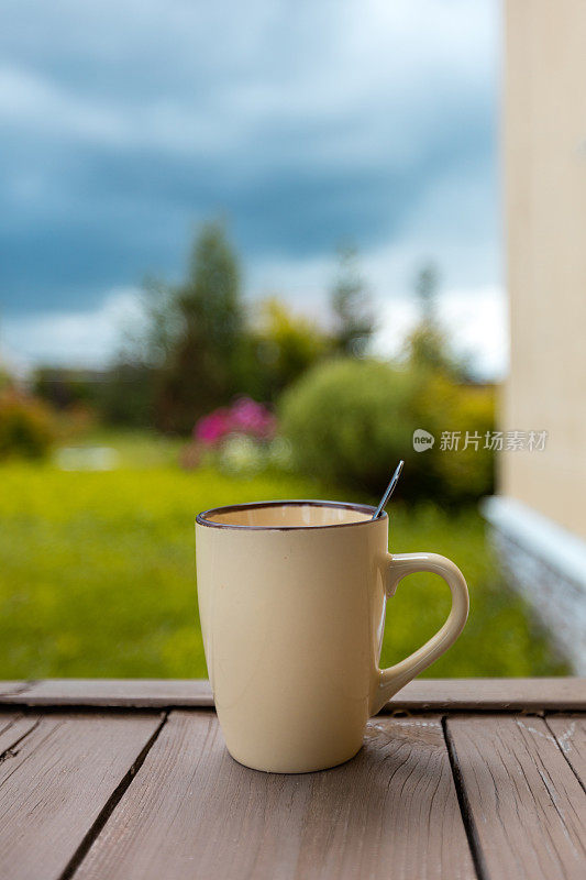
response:
<path id="1" fill-rule="evenodd" d="M 220 222 L 197 235 L 180 285 L 150 278 L 144 321 L 110 370 L 102 395 L 108 420 L 188 433 L 242 387 L 245 321 L 237 256 Z"/>

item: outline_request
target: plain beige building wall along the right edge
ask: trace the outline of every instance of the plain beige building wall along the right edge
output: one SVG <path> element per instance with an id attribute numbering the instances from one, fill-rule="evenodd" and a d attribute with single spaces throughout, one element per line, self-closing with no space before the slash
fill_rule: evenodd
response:
<path id="1" fill-rule="evenodd" d="M 506 0 L 504 163 L 511 359 L 500 492 L 586 539 L 586 2 Z"/>

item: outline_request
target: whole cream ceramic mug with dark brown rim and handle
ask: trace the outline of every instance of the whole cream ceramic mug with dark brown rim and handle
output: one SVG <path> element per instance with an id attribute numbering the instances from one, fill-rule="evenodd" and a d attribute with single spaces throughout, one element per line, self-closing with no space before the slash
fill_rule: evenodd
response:
<path id="1" fill-rule="evenodd" d="M 455 641 L 468 613 L 461 571 L 436 553 L 391 556 L 388 517 L 339 502 L 218 507 L 196 520 L 208 671 L 228 750 L 256 770 L 301 773 L 352 758 L 367 718 Z M 452 592 L 442 628 L 389 669 L 386 600 L 406 574 Z"/>

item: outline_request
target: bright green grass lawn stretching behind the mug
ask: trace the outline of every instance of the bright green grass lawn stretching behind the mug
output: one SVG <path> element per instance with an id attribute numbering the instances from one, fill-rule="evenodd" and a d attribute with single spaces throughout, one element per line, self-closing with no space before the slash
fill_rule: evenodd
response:
<path id="1" fill-rule="evenodd" d="M 0 678 L 206 675 L 195 513 L 264 498 L 344 497 L 288 476 L 185 473 L 173 463 L 175 450 L 124 442 L 121 468 L 106 473 L 0 465 Z M 444 553 L 471 588 L 464 635 L 429 674 L 565 671 L 500 582 L 475 512 L 454 517 L 396 505 L 391 514 L 391 549 Z M 421 645 L 447 606 L 439 579 L 403 581 L 388 606 L 383 663 Z"/>

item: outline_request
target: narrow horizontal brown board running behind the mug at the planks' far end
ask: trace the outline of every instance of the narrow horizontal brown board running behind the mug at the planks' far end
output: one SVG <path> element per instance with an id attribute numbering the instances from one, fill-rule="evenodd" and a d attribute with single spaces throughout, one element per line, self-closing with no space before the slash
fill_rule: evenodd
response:
<path id="1" fill-rule="evenodd" d="M 0 704 L 30 706 L 120 706 L 189 708 L 212 706 L 204 679 L 47 679 L 14 693 Z M 416 679 L 387 703 L 392 712 L 540 712 L 586 711 L 586 679 Z"/>

